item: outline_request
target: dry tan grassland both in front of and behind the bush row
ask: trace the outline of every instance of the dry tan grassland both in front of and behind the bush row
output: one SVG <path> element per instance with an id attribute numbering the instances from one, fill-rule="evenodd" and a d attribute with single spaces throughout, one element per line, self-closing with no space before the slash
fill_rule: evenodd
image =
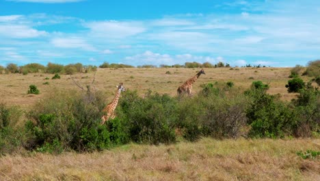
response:
<path id="1" fill-rule="evenodd" d="M 0 99 L 27 111 L 56 89 L 79 92 L 79 86 L 92 85 L 105 94 L 105 102 L 109 103 L 120 82 L 127 90 L 137 90 L 141 97 L 149 90 L 175 97 L 178 86 L 199 70 L 98 69 L 96 73 L 61 75 L 58 80 L 51 80 L 53 75 L 48 73 L 2 74 Z M 261 80 L 269 84 L 267 93 L 279 95 L 281 101 L 291 101 L 297 93 L 288 93 L 285 87 L 290 70 L 204 69 L 206 74 L 194 83 L 192 93 L 198 93 L 204 84 L 215 82 L 233 82 L 239 91 L 244 91 L 253 81 Z M 49 80 L 44 80 L 45 77 Z M 302 79 L 308 82 L 310 77 Z M 39 95 L 27 94 L 30 84 L 38 86 Z M 306 150 L 320 151 L 319 137 L 203 137 L 196 142 L 178 138 L 176 143 L 168 145 L 128 143 L 99 152 L 62 154 L 20 150 L 0 156 L 0 180 L 320 180 L 319 156 L 304 159 L 297 155 Z"/>

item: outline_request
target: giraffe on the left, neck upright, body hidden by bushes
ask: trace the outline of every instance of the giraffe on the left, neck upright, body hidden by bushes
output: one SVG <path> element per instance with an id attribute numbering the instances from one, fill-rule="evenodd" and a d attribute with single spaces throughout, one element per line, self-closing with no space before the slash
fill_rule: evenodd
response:
<path id="1" fill-rule="evenodd" d="M 104 114 L 103 117 L 101 117 L 101 125 L 103 125 L 105 123 L 105 121 L 108 121 L 109 119 L 114 119 L 115 114 L 114 114 L 114 110 L 116 109 L 117 105 L 118 105 L 118 101 L 119 101 L 119 97 L 120 97 L 120 93 L 124 90 L 126 90 L 123 86 L 122 83 L 119 84 L 119 86 L 117 86 L 118 90 L 116 92 L 116 96 L 114 97 L 114 100 L 111 101 L 111 103 L 109 103 L 104 109 L 103 112 L 107 113 Z"/>

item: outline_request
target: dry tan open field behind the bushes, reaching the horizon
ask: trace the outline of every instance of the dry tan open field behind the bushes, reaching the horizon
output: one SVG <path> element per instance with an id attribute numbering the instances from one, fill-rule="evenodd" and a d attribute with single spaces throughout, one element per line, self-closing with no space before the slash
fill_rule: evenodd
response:
<path id="1" fill-rule="evenodd" d="M 200 90 L 201 84 L 209 82 L 228 82 L 232 81 L 235 86 L 241 90 L 249 88 L 255 80 L 261 80 L 268 83 L 270 88 L 268 93 L 280 94 L 283 100 L 291 100 L 295 94 L 287 93 L 284 87 L 289 80 L 291 68 L 217 68 L 204 69 L 206 75 L 201 75 L 194 84 L 193 92 Z M 176 88 L 183 84 L 185 80 L 196 74 L 200 69 L 175 69 L 175 68 L 158 68 L 158 69 L 98 69 L 94 81 L 94 86 L 98 90 L 102 90 L 106 95 L 114 95 L 116 85 L 123 82 L 126 88 L 137 90 L 140 95 L 146 93 L 149 89 L 158 93 L 167 93 L 176 95 Z M 171 74 L 166 74 L 166 72 Z M 44 80 L 49 77 L 49 80 Z M 44 97 L 53 88 L 66 88 L 71 90 L 81 90 L 70 79 L 70 75 L 61 75 L 60 80 L 51 80 L 52 74 L 46 73 L 29 73 L 22 74 L 4 74 L 0 75 L 0 97 L 10 105 L 19 105 L 22 108 L 28 108 L 38 99 Z M 85 86 L 93 80 L 94 73 L 78 73 L 72 75 L 74 79 Z M 250 77 L 253 77 L 253 79 Z M 303 77 L 309 80 L 310 77 Z M 44 85 L 44 82 L 49 82 L 49 85 Z M 40 90 L 40 95 L 27 95 L 27 90 L 30 84 L 35 84 Z M 111 100 L 113 96 L 109 99 Z M 109 101 L 109 99 L 107 101 Z"/>

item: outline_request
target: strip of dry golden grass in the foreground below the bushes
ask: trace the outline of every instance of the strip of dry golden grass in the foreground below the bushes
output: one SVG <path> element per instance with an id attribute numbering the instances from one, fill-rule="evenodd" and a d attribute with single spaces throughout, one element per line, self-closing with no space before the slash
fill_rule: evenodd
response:
<path id="1" fill-rule="evenodd" d="M 319 139 L 224 140 L 129 144 L 91 154 L 0 158 L 0 180 L 320 180 Z"/>

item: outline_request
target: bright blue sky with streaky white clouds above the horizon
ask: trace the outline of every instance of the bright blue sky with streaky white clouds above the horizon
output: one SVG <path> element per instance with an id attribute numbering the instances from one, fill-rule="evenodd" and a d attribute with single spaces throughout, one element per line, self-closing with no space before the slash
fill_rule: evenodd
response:
<path id="1" fill-rule="evenodd" d="M 320 1 L 0 0 L 0 64 L 228 62 L 320 58 Z"/>

